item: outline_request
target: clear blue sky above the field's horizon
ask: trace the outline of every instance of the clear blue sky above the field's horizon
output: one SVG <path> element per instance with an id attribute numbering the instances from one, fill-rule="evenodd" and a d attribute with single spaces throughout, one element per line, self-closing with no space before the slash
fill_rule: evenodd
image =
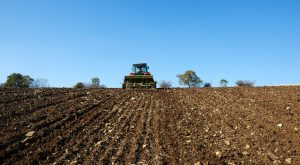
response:
<path id="1" fill-rule="evenodd" d="M 299 0 L 0 0 L 0 82 L 19 72 L 120 87 L 133 63 L 178 86 L 300 83 Z"/>

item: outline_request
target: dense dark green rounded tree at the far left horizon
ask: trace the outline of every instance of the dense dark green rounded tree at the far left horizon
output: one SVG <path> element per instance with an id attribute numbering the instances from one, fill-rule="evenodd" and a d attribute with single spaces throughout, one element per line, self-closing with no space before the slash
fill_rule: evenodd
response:
<path id="1" fill-rule="evenodd" d="M 34 79 L 28 75 L 23 76 L 20 73 L 13 73 L 7 76 L 4 86 L 9 88 L 29 88 L 33 81 Z"/>

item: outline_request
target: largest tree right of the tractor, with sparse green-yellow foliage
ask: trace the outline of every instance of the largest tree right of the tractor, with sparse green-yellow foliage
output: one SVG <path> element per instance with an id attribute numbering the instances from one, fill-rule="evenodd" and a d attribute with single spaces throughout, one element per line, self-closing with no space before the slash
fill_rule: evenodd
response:
<path id="1" fill-rule="evenodd" d="M 179 84 L 183 86 L 190 87 L 200 87 L 202 85 L 202 80 L 197 76 L 195 71 L 187 70 L 184 74 L 177 75 L 179 79 Z"/>

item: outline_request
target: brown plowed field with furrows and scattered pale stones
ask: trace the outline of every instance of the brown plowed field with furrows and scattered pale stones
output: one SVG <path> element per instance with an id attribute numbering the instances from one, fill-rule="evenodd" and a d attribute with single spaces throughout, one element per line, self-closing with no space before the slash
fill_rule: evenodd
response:
<path id="1" fill-rule="evenodd" d="M 300 164 L 300 87 L 0 89 L 0 164 Z"/>

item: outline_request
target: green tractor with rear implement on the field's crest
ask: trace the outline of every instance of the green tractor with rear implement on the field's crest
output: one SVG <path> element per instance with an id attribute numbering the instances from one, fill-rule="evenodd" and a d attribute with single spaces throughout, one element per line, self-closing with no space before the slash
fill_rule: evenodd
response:
<path id="1" fill-rule="evenodd" d="M 156 88 L 156 81 L 148 70 L 146 63 L 133 64 L 132 72 L 125 76 L 122 88 Z"/>

